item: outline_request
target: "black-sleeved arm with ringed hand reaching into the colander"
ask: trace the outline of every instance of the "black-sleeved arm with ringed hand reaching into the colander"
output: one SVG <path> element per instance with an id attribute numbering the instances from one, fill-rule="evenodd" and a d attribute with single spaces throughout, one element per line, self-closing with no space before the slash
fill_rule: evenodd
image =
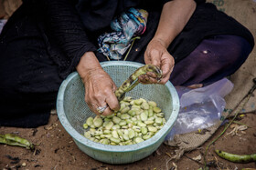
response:
<path id="1" fill-rule="evenodd" d="M 77 69 L 85 87 L 85 101 L 95 114 L 99 106 L 108 105 L 102 115 L 109 115 L 119 109 L 113 91 L 116 86 L 112 78 L 102 69 L 91 43 L 80 22 L 79 15 L 69 0 L 45 0 L 44 9 L 50 37 L 59 45 L 66 58 L 67 74 Z M 59 61 L 61 62 L 61 60 Z"/>

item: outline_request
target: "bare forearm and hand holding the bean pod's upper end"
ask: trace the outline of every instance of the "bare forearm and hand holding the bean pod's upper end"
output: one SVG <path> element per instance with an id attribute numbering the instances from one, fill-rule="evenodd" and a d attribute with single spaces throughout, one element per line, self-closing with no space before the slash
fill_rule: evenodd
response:
<path id="1" fill-rule="evenodd" d="M 155 36 L 147 45 L 144 53 L 145 64 L 157 65 L 163 72 L 159 84 L 165 84 L 171 75 L 175 61 L 167 47 L 175 39 L 196 9 L 194 0 L 174 0 L 165 3 Z M 140 76 L 142 83 L 157 83 L 155 75 L 148 73 Z"/>

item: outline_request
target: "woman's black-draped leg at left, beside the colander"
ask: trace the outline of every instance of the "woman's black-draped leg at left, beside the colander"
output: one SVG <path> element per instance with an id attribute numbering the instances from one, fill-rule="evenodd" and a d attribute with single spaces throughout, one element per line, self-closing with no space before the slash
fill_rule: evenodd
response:
<path id="1" fill-rule="evenodd" d="M 0 38 L 0 126 L 46 125 L 62 82 L 58 66 L 29 17 L 19 9 L 10 21 Z"/>

